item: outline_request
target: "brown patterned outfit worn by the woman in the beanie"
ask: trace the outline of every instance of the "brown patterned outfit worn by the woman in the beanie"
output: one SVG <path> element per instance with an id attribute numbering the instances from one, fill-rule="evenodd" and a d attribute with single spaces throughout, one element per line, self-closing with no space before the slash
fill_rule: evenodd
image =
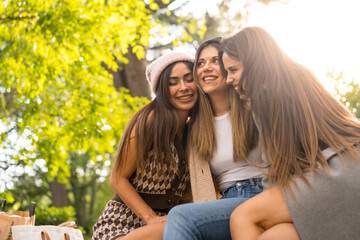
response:
<path id="1" fill-rule="evenodd" d="M 173 206 L 191 199 L 189 167 L 183 146 L 185 144 L 175 137 L 172 154 L 176 167 L 165 168 L 164 176 L 161 176 L 162 174 L 157 176 L 157 166 L 150 153 L 145 167 L 146 174 L 140 179 L 134 174 L 129 179 L 139 195 L 158 215 L 165 215 Z M 146 225 L 145 222 L 115 194 L 94 225 L 92 240 L 115 239 L 144 225 Z"/>

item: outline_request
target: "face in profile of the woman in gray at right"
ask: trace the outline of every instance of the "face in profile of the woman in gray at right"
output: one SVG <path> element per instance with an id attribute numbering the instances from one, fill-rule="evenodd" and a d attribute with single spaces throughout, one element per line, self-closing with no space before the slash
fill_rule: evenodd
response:
<path id="1" fill-rule="evenodd" d="M 226 52 L 224 52 L 222 60 L 224 63 L 224 68 L 227 72 L 226 84 L 233 86 L 235 91 L 241 95 L 239 81 L 244 68 L 242 62 L 230 57 Z M 244 80 L 241 84 L 243 90 L 245 90 L 245 83 L 246 81 Z"/>

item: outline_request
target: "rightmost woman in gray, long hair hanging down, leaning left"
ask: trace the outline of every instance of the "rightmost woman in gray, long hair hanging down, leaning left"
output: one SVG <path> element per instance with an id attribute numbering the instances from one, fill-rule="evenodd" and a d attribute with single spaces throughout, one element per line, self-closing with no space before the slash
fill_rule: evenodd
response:
<path id="1" fill-rule="evenodd" d="M 265 30 L 244 28 L 221 44 L 268 167 L 269 189 L 232 213 L 232 239 L 359 239 L 359 120 Z"/>

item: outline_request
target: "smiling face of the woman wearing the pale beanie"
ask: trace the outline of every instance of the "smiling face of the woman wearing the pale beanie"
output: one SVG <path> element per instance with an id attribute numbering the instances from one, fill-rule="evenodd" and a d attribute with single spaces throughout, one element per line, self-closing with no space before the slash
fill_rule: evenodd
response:
<path id="1" fill-rule="evenodd" d="M 169 101 L 177 112 L 189 112 L 198 99 L 192 71 L 182 62 L 176 63 L 169 76 Z"/>

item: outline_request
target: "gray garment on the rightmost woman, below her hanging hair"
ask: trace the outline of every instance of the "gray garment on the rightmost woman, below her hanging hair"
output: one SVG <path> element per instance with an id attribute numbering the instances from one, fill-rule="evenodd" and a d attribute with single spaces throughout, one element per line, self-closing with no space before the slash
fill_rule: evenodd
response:
<path id="1" fill-rule="evenodd" d="M 360 147 L 357 147 L 360 154 Z M 323 151 L 330 175 L 319 171 L 309 175 L 309 188 L 297 179 L 295 199 L 287 194 L 287 204 L 302 240 L 360 239 L 360 159 L 345 156 L 341 161 L 330 148 Z M 359 155 L 360 156 L 360 155 Z"/>

